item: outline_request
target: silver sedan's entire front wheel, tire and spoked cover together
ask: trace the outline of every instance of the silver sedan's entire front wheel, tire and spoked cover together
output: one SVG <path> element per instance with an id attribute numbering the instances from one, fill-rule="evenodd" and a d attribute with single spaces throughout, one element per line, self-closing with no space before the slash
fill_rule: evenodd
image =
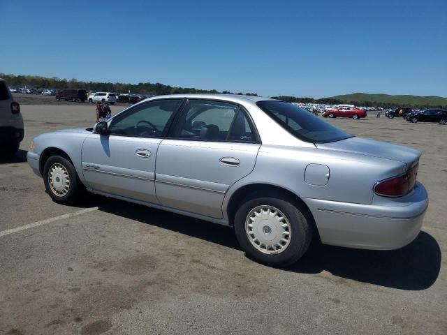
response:
<path id="1" fill-rule="evenodd" d="M 82 191 L 82 184 L 73 164 L 62 156 L 47 159 L 43 168 L 43 182 L 52 200 L 59 204 L 75 203 Z"/>

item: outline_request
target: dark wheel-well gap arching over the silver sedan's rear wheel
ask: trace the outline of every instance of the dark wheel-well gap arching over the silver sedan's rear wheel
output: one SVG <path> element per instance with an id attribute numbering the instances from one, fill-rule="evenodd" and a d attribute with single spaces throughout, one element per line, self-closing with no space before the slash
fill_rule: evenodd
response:
<path id="1" fill-rule="evenodd" d="M 270 197 L 274 196 L 279 198 L 288 198 L 300 204 L 300 207 L 305 210 L 305 214 L 307 214 L 307 217 L 310 218 L 312 228 L 315 232 L 314 236 L 318 237 L 318 240 L 321 241 L 318 227 L 315 223 L 314 215 L 312 214 L 312 211 L 309 209 L 307 204 L 302 201 L 302 199 L 296 193 L 293 193 L 292 191 L 284 187 L 266 183 L 247 184 L 241 186 L 240 188 L 237 188 L 237 190 L 234 191 L 232 195 L 230 195 L 230 199 L 228 200 L 228 203 L 226 205 L 226 214 L 228 216 L 228 223 L 230 226 L 234 226 L 235 214 L 237 209 L 239 208 L 240 203 L 244 199 L 249 198 L 255 193 Z"/>

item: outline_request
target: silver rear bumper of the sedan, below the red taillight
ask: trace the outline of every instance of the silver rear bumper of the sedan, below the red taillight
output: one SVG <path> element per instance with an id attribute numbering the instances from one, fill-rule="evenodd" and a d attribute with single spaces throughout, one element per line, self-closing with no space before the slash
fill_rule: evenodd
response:
<path id="1" fill-rule="evenodd" d="M 417 183 L 411 195 L 388 204 L 351 204 L 302 199 L 314 215 L 323 244 L 392 250 L 406 246 L 422 227 L 428 207 L 427 191 Z"/>

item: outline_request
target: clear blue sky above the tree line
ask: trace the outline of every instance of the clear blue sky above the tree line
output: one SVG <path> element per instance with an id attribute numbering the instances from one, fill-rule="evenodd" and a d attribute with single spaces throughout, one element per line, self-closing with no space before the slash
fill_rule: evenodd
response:
<path id="1" fill-rule="evenodd" d="M 0 73 L 447 96 L 447 1 L 0 0 Z"/>

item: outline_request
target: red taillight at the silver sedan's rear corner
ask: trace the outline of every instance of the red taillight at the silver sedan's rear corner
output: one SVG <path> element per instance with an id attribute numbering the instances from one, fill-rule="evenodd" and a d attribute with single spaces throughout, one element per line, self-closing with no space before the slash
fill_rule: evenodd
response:
<path id="1" fill-rule="evenodd" d="M 374 193 L 386 197 L 401 197 L 409 193 L 414 184 L 416 184 L 416 176 L 418 175 L 418 165 L 400 176 L 379 181 L 374 186 Z"/>

